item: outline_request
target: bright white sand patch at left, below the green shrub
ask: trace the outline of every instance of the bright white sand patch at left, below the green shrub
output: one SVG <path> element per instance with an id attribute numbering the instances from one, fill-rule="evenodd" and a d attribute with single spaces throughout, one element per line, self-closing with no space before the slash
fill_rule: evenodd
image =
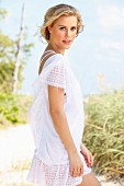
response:
<path id="1" fill-rule="evenodd" d="M 0 172 L 16 161 L 31 159 L 34 144 L 29 125 L 0 131 Z"/>

